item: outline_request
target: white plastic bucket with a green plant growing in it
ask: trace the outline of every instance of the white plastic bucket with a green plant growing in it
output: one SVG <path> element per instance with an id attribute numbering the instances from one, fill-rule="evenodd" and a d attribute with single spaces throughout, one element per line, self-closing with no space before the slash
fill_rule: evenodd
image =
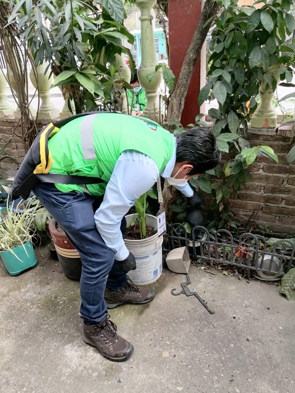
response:
<path id="1" fill-rule="evenodd" d="M 137 213 L 125 217 L 125 245 L 136 260 L 136 270 L 130 270 L 128 275 L 135 285 L 154 283 L 162 274 L 163 236 L 158 235 L 157 217 L 146 213 L 147 195 L 157 198 L 152 190 L 147 191 L 135 201 Z"/>

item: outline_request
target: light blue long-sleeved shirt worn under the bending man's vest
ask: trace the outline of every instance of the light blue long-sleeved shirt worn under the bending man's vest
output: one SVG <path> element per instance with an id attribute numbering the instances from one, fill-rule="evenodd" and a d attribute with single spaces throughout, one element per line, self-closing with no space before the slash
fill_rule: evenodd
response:
<path id="1" fill-rule="evenodd" d="M 171 176 L 175 162 L 176 141 L 173 154 L 161 172 L 163 178 Z M 116 162 L 94 220 L 103 241 L 114 252 L 117 261 L 123 261 L 129 255 L 120 231 L 121 220 L 134 205 L 135 199 L 146 193 L 158 177 L 159 169 L 155 161 L 140 152 L 124 151 Z M 194 193 L 188 182 L 174 187 L 185 196 Z"/>

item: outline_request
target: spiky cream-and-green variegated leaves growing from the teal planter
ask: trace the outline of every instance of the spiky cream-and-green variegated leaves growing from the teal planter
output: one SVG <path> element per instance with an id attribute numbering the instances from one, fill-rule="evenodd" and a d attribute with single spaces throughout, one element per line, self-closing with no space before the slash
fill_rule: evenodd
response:
<path id="1" fill-rule="evenodd" d="M 24 204 L 22 208 L 23 213 L 18 213 L 17 210 Z M 8 206 L 7 213 L 1 214 L 0 222 L 0 251 L 13 252 L 13 248 L 17 246 L 24 246 L 24 243 L 31 240 L 33 234 L 30 231 L 34 225 L 33 220 L 36 212 L 40 209 L 40 202 L 36 197 L 30 198 L 28 202 L 20 201 L 13 211 Z M 26 251 L 26 249 L 24 248 Z"/>

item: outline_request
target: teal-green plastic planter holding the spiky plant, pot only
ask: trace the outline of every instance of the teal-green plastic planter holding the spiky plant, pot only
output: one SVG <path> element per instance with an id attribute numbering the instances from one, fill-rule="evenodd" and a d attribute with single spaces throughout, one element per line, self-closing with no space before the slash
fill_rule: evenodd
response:
<path id="1" fill-rule="evenodd" d="M 24 250 L 26 249 L 26 251 Z M 31 269 L 37 265 L 37 258 L 35 251 L 33 249 L 32 243 L 30 241 L 24 243 L 24 246 L 17 246 L 13 248 L 13 255 L 10 251 L 1 251 L 0 256 L 2 258 L 3 264 L 10 275 L 18 275 L 25 270 Z M 26 254 L 28 253 L 28 255 Z"/>

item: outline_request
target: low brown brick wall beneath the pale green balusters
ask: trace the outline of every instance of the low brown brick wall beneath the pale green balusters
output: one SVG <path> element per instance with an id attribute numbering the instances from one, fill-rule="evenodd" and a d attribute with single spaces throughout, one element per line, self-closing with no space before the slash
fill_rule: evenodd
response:
<path id="1" fill-rule="evenodd" d="M 210 126 L 210 125 L 209 125 Z M 25 155 L 20 129 L 15 134 L 15 123 L 0 121 L 0 146 L 11 138 L 5 153 L 13 156 L 18 163 Z M 42 124 L 39 125 L 42 127 Z M 294 131 L 286 127 L 279 129 L 251 129 L 248 139 L 251 146 L 267 145 L 278 155 L 278 164 L 260 156 L 249 167 L 253 183 L 246 183 L 232 201 L 232 210 L 240 222 L 251 221 L 268 226 L 274 233 L 290 234 L 295 231 L 295 164 L 286 165 L 286 156 L 294 145 Z M 0 162 L 2 178 L 14 176 L 17 164 L 11 160 Z M 208 203 L 206 198 L 205 203 Z"/>

